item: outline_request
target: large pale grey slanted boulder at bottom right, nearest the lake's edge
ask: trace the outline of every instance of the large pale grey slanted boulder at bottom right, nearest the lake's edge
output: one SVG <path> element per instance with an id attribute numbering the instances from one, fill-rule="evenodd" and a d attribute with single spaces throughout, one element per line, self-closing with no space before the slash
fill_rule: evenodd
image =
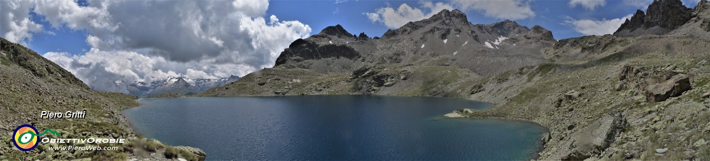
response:
<path id="1" fill-rule="evenodd" d="M 606 150 L 626 127 L 621 112 L 611 112 L 574 133 L 567 155 L 561 160 L 585 160 Z"/>

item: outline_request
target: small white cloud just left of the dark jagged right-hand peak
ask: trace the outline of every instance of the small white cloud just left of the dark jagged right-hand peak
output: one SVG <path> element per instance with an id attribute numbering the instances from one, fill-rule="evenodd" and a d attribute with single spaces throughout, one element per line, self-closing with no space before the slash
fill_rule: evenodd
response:
<path id="1" fill-rule="evenodd" d="M 626 21 L 626 18 L 631 18 L 631 16 L 633 15 L 627 15 L 623 18 L 613 18 L 610 20 L 576 20 L 574 18 L 567 17 L 567 20 L 564 20 L 564 24 L 571 26 L 572 29 L 584 35 L 606 35 L 616 32 L 619 26 Z"/>

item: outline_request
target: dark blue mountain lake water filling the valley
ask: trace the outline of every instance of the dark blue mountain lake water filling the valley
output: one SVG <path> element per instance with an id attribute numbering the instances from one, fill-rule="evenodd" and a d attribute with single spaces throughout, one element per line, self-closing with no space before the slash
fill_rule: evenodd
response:
<path id="1" fill-rule="evenodd" d="M 486 102 L 441 97 L 305 95 L 141 99 L 138 133 L 201 148 L 207 160 L 528 160 L 545 129 L 444 119 Z"/>

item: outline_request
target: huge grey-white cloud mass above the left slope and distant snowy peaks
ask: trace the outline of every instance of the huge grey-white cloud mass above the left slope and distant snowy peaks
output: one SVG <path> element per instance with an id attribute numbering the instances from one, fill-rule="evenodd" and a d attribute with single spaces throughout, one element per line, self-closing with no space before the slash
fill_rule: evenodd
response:
<path id="1" fill-rule="evenodd" d="M 1 3 L 2 11 L 11 12 L 1 13 L 0 34 L 13 42 L 42 32 L 42 26 L 28 18 L 30 12 L 43 16 L 51 28 L 85 30 L 91 47 L 87 52 L 43 56 L 94 90 L 125 92 L 111 86 L 121 79 L 244 76 L 273 66 L 288 44 L 311 32 L 309 25 L 297 20 L 267 16 L 267 0 Z"/>

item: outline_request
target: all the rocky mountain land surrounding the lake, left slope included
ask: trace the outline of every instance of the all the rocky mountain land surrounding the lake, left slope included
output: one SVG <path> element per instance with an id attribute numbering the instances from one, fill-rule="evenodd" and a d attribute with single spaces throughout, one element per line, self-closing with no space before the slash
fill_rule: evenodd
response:
<path id="1" fill-rule="evenodd" d="M 295 40 L 273 68 L 231 83 L 218 82 L 236 77 L 119 80 L 111 85 L 143 96 L 189 94 L 214 85 L 218 87 L 193 96 L 367 94 L 481 100 L 496 107 L 461 107 L 446 116 L 545 126 L 537 160 L 710 160 L 708 8 L 710 2 L 704 0 L 695 8 L 679 0 L 657 0 L 646 11 L 636 11 L 613 35 L 564 40 L 555 40 L 537 25 L 528 28 L 511 20 L 474 25 L 461 11 L 443 10 L 381 37 L 353 35 L 340 25 L 324 28 Z M 0 39 L 0 131 L 33 124 L 67 138 L 131 139 L 126 145 L 107 144 L 120 150 L 53 151 L 47 149 L 51 144 L 39 144 L 22 152 L 12 149 L 11 136 L 3 134 L 1 158 L 204 160 L 201 150 L 137 136 L 121 115 L 121 109 L 138 105 L 137 97 L 91 88 L 36 52 Z M 48 109 L 89 114 L 80 121 L 37 119 L 36 114 Z"/>

